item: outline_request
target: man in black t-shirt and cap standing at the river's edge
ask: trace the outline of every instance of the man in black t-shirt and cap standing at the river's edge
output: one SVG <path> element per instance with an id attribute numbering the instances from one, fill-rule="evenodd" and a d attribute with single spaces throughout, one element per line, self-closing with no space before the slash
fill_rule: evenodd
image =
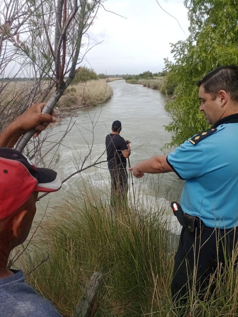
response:
<path id="1" fill-rule="evenodd" d="M 112 124 L 112 133 L 106 136 L 108 168 L 111 175 L 111 205 L 125 201 L 128 191 L 126 159 L 130 156 L 129 140 L 120 136 L 122 124 L 116 120 Z"/>

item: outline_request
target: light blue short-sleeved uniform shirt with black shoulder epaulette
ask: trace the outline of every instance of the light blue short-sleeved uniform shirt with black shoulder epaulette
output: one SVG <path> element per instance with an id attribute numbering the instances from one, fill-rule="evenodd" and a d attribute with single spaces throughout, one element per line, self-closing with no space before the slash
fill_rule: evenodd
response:
<path id="1" fill-rule="evenodd" d="M 234 116 L 237 117 L 227 118 Z M 167 157 L 169 165 L 185 179 L 182 210 L 200 217 L 206 226 L 212 228 L 228 229 L 238 225 L 236 121 L 216 126 L 215 133 L 196 145 L 188 139 Z"/>

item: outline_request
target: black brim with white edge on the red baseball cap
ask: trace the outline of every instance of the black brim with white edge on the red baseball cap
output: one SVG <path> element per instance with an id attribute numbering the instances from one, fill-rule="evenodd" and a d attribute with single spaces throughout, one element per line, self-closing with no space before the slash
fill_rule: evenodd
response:
<path id="1" fill-rule="evenodd" d="M 57 173 L 49 168 L 37 168 L 39 181 L 35 191 L 53 192 L 61 188 L 62 182 Z"/>

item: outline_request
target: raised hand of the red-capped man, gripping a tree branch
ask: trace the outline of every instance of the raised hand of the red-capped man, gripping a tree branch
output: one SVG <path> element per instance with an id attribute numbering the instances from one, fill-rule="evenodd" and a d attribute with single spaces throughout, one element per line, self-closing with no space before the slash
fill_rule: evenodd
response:
<path id="1" fill-rule="evenodd" d="M 42 102 L 28 108 L 12 123 L 14 128 L 22 134 L 35 128 L 37 132 L 34 137 L 36 138 L 51 122 L 56 121 L 54 110 L 50 114 L 41 113 L 45 104 L 45 102 Z"/>

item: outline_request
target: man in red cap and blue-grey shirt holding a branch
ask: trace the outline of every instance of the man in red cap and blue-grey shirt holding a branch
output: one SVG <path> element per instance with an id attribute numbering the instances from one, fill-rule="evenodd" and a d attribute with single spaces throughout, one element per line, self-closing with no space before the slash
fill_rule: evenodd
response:
<path id="1" fill-rule="evenodd" d="M 56 308 L 25 281 L 23 271 L 7 268 L 10 252 L 27 238 L 36 213 L 38 192 L 57 191 L 55 171 L 36 168 L 11 149 L 26 131 L 37 136 L 55 113 L 42 114 L 44 103 L 33 105 L 0 134 L 0 317 L 60 317 Z"/>

